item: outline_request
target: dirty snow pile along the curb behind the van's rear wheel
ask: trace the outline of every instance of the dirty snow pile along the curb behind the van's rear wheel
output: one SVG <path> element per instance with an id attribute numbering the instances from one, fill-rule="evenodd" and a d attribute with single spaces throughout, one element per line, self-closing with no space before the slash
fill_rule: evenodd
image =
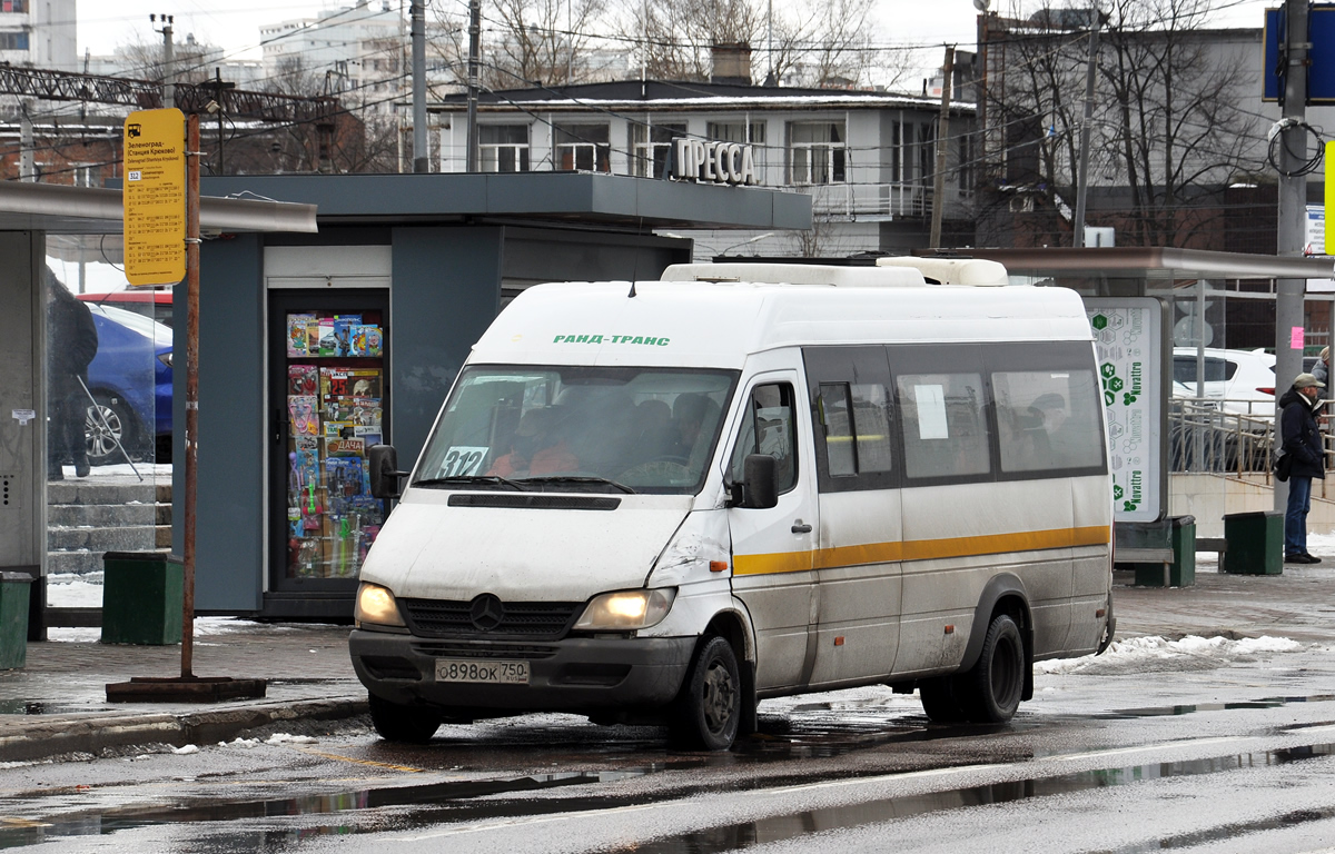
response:
<path id="1" fill-rule="evenodd" d="M 1303 645 L 1288 638 L 1200 638 L 1187 635 L 1180 640 L 1159 636 L 1115 640 L 1103 655 L 1061 658 L 1035 662 L 1035 673 L 1044 674 L 1123 674 L 1172 670 L 1214 670 L 1234 662 L 1255 661 L 1271 653 L 1294 653 Z"/>

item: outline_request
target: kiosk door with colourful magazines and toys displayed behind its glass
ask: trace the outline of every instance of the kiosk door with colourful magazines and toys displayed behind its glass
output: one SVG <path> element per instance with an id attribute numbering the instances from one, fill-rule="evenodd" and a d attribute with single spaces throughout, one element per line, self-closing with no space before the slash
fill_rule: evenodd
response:
<path id="1" fill-rule="evenodd" d="M 366 448 L 390 440 L 388 291 L 275 291 L 268 308 L 268 590 L 346 595 L 351 614 L 387 511 Z"/>

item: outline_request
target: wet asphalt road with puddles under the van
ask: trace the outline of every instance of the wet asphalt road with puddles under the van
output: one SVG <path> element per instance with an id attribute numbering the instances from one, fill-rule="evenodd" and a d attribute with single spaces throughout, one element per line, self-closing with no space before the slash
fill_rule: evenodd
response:
<path id="1" fill-rule="evenodd" d="M 394 747 L 364 727 L 0 769 L 35 851 L 1335 850 L 1335 662 L 1288 653 L 1040 674 L 1007 726 L 888 689 L 768 701 L 726 754 L 530 715 Z M 291 730 L 290 730 L 291 733 Z M 262 734 L 263 738 L 263 734 Z M 77 758 L 76 758 L 77 759 Z"/>

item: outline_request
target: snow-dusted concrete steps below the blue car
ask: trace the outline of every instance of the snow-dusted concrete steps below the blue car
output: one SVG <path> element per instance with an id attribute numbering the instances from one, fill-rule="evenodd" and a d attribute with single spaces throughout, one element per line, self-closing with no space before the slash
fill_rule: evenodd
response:
<path id="1" fill-rule="evenodd" d="M 47 572 L 101 572 L 108 551 L 171 548 L 171 483 L 88 478 L 47 484 Z"/>

